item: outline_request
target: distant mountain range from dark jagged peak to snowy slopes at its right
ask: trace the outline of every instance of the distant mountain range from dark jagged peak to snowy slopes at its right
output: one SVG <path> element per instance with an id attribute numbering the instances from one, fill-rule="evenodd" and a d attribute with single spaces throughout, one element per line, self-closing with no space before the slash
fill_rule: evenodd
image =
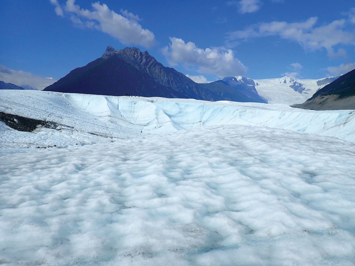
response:
<path id="1" fill-rule="evenodd" d="M 148 51 L 108 46 L 102 57 L 72 70 L 46 91 L 120 96 L 158 96 L 208 101 L 300 104 L 337 77 L 256 79 L 225 77 L 211 83 L 195 83 L 174 68 L 165 67 Z"/>

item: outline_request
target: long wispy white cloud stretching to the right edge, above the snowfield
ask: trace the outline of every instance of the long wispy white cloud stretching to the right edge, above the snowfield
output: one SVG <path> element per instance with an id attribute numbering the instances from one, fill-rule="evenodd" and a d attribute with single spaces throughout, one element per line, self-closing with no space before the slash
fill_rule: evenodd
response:
<path id="1" fill-rule="evenodd" d="M 317 17 L 308 18 L 304 22 L 288 23 L 273 21 L 254 24 L 243 31 L 229 33 L 228 39 L 248 39 L 266 36 L 279 36 L 282 39 L 297 41 L 305 50 L 326 49 L 329 56 L 345 55 L 344 49 L 334 51 L 339 44 L 354 45 L 355 35 L 343 30 L 345 20 L 335 20 L 329 24 L 315 27 Z"/>

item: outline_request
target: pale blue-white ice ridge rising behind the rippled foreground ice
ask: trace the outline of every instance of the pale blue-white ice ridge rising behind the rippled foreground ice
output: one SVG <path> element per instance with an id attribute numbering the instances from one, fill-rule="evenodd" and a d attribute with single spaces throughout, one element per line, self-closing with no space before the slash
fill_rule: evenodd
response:
<path id="1" fill-rule="evenodd" d="M 311 111 L 282 104 L 9 90 L 0 92 L 0 99 L 1 112 L 65 125 L 58 129 L 38 127 L 37 134 L 14 134 L 2 123 L 3 143 L 9 143 L 4 141 L 6 138 L 16 138 L 17 142 L 27 139 L 27 143 L 32 139 L 33 145 L 39 145 L 38 142 L 57 146 L 93 144 L 142 134 L 232 124 L 288 129 L 355 142 L 353 110 Z M 20 141 L 19 146 L 22 144 Z"/>

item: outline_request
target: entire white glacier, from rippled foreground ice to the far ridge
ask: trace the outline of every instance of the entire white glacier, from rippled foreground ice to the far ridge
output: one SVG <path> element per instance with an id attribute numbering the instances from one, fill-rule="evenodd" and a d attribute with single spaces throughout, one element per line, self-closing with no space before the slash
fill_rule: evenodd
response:
<path id="1" fill-rule="evenodd" d="M 62 124 L 0 123 L 4 265 L 355 264 L 354 111 L 37 91 L 0 111 Z"/>

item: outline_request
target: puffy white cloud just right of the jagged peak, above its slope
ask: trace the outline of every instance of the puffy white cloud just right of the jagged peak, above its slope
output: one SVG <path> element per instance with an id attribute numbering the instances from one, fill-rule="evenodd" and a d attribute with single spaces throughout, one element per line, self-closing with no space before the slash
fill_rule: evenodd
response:
<path id="1" fill-rule="evenodd" d="M 179 38 L 170 38 L 169 46 L 163 48 L 163 54 L 172 66 L 182 63 L 184 66 L 197 66 L 198 72 L 215 74 L 218 77 L 244 76 L 247 68 L 234 57 L 231 49 L 214 47 L 201 49 L 195 43 L 185 43 Z"/>

